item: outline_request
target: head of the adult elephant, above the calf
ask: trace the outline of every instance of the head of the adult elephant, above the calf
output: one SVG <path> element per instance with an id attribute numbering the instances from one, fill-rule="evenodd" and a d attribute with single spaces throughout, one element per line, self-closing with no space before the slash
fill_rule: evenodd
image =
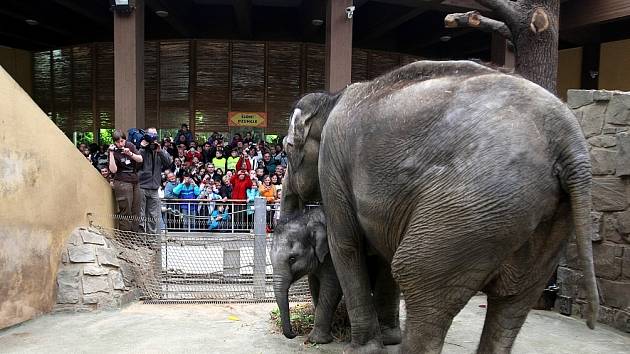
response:
<path id="1" fill-rule="evenodd" d="M 282 186 L 282 212 L 291 215 L 307 201 L 321 201 L 317 160 L 322 129 L 339 94 L 310 93 L 295 105 L 284 139 L 289 166 Z"/>

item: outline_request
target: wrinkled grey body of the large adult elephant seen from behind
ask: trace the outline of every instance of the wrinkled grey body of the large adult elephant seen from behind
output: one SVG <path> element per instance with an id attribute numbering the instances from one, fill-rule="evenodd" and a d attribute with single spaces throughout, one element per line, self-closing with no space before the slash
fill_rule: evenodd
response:
<path id="1" fill-rule="evenodd" d="M 312 109 L 307 107 L 325 107 Z M 422 61 L 296 105 L 287 145 L 325 120 L 318 160 L 330 253 L 352 323 L 347 353 L 385 352 L 365 247 L 391 263 L 402 352 L 440 352 L 453 317 L 488 295 L 480 353 L 509 352 L 575 229 L 593 328 L 591 170 L 573 114 L 522 78 Z"/>

